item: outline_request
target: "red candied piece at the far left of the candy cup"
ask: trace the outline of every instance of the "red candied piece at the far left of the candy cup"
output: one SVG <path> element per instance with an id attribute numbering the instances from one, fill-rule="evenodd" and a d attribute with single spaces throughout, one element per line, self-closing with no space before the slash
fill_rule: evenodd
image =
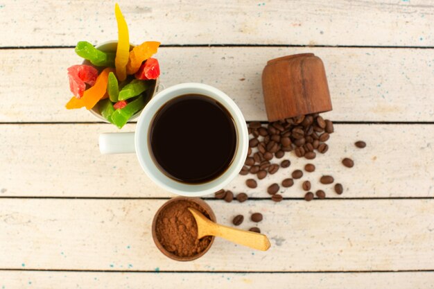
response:
<path id="1" fill-rule="evenodd" d="M 98 70 L 90 65 L 73 65 L 68 69 L 69 89 L 76 98 L 81 98 L 86 90 L 86 84 L 94 86 Z"/>

